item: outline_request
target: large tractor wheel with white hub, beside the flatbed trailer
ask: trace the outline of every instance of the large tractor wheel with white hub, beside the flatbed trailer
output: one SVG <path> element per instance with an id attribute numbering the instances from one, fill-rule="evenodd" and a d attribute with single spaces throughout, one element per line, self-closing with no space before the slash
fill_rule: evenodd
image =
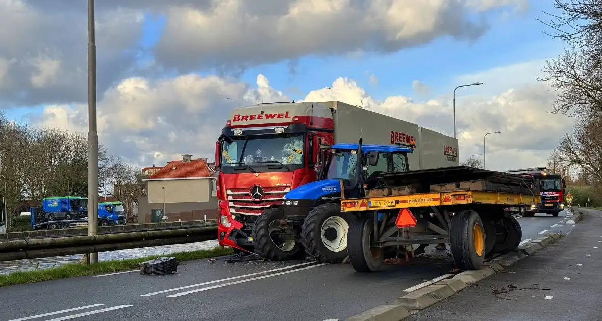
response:
<path id="1" fill-rule="evenodd" d="M 341 213 L 341 205 L 326 203 L 312 209 L 301 227 L 301 242 L 309 257 L 323 263 L 341 263 L 347 257 L 349 222 L 355 219 Z"/>

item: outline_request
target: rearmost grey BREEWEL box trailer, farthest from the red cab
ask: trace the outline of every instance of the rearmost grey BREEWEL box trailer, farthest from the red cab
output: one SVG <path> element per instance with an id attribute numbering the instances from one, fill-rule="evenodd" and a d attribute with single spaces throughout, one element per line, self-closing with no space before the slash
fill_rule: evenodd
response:
<path id="1" fill-rule="evenodd" d="M 460 165 L 458 139 L 418 127 L 418 144 L 421 169 Z"/>

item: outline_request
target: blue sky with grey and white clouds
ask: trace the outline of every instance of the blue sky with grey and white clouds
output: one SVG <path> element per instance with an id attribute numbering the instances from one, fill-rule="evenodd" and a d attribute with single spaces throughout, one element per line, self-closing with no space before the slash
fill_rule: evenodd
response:
<path id="1" fill-rule="evenodd" d="M 536 80 L 541 0 L 96 1 L 100 141 L 132 164 L 213 159 L 234 106 L 340 100 L 452 135 L 492 170 L 545 165 L 573 120 Z M 0 0 L 0 108 L 87 132 L 87 7 Z M 330 87 L 326 89 L 324 87 Z M 228 98 L 228 99 L 226 99 Z M 481 156 L 479 156 L 481 157 Z"/>

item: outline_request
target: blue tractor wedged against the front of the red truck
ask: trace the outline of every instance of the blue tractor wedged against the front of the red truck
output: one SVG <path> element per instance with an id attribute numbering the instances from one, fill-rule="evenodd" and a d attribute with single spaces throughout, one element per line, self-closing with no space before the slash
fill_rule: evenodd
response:
<path id="1" fill-rule="evenodd" d="M 408 171 L 412 148 L 395 145 L 320 145 L 318 180 L 293 189 L 284 204 L 259 215 L 253 227 L 255 253 L 268 260 L 309 255 L 324 263 L 347 257 L 347 233 L 355 216 L 341 212 L 341 195 L 355 198 L 381 184 L 380 174 Z M 341 190 L 343 192 L 341 192 Z"/>

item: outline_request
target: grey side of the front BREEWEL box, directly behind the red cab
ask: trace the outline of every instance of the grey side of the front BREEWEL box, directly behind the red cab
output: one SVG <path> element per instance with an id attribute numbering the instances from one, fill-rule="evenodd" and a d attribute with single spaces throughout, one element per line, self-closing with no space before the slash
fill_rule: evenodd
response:
<path id="1" fill-rule="evenodd" d="M 409 147 L 415 141 L 414 152 L 408 154 L 410 170 L 420 169 L 418 125 L 405 120 L 379 114 L 365 108 L 342 102 L 321 102 L 334 109 L 334 140 L 337 143 L 357 143 L 359 136 L 364 144 L 402 145 Z"/>

